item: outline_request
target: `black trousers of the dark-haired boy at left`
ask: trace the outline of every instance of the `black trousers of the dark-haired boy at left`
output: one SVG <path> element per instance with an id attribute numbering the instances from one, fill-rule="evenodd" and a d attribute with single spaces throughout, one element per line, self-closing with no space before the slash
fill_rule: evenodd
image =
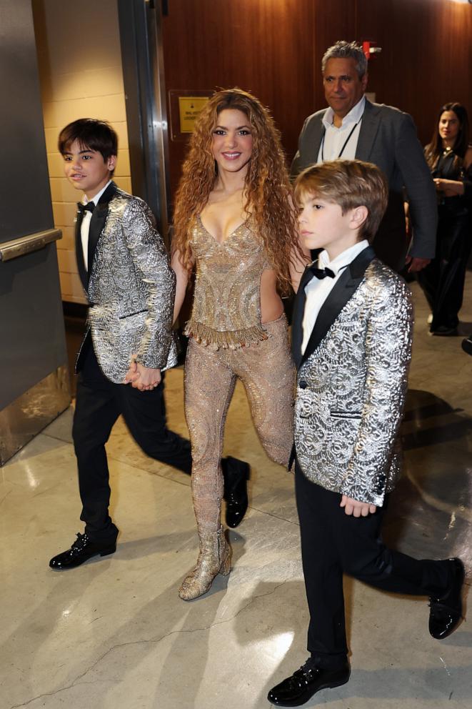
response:
<path id="1" fill-rule="evenodd" d="M 118 529 L 109 516 L 110 486 L 105 444 L 119 415 L 134 440 L 152 458 L 191 473 L 188 440 L 166 427 L 164 383 L 149 392 L 110 382 L 96 361 L 91 343 L 77 380 L 72 436 L 79 469 L 81 520 L 93 539 L 109 540 Z"/>

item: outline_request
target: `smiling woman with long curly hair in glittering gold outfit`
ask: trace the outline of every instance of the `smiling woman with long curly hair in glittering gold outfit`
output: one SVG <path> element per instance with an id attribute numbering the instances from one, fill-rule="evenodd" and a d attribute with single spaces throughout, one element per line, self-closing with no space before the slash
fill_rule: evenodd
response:
<path id="1" fill-rule="evenodd" d="M 246 388 L 261 443 L 287 465 L 293 442 L 294 370 L 279 292 L 298 287 L 308 256 L 279 133 L 268 111 L 241 89 L 219 91 L 196 120 L 174 213 L 174 317 L 192 270 L 186 324 L 185 410 L 200 553 L 179 590 L 206 593 L 231 569 L 221 527 L 221 450 L 236 377 Z"/>

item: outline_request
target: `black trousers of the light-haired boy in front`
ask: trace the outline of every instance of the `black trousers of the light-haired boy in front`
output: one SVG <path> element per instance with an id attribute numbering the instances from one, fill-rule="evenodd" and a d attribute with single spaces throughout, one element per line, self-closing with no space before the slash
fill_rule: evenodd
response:
<path id="1" fill-rule="evenodd" d="M 385 506 L 368 517 L 346 515 L 339 507 L 341 495 L 308 480 L 298 463 L 295 486 L 310 610 L 308 650 L 318 665 L 334 669 L 348 653 L 343 573 L 386 591 L 441 597 L 450 580 L 449 564 L 387 549 L 380 532 Z"/>

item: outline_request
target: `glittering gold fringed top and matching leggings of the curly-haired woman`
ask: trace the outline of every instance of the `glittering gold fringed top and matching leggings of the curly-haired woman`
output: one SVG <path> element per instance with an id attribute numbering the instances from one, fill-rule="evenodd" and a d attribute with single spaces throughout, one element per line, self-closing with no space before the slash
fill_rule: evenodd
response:
<path id="1" fill-rule="evenodd" d="M 220 528 L 224 423 L 236 377 L 246 388 L 266 453 L 287 465 L 293 442 L 294 368 L 286 317 L 261 323 L 261 276 L 270 269 L 250 219 L 223 243 L 197 217 L 191 229 L 196 284 L 185 367 L 192 495 L 199 532 Z"/>

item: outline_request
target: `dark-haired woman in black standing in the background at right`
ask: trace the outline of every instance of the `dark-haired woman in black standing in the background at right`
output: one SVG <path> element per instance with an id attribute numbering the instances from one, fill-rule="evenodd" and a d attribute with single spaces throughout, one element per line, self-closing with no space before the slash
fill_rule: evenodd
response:
<path id="1" fill-rule="evenodd" d="M 464 106 L 441 106 L 425 157 L 438 194 L 438 229 L 436 257 L 418 280 L 431 307 L 431 334 L 456 335 L 472 247 L 472 147 Z"/>

